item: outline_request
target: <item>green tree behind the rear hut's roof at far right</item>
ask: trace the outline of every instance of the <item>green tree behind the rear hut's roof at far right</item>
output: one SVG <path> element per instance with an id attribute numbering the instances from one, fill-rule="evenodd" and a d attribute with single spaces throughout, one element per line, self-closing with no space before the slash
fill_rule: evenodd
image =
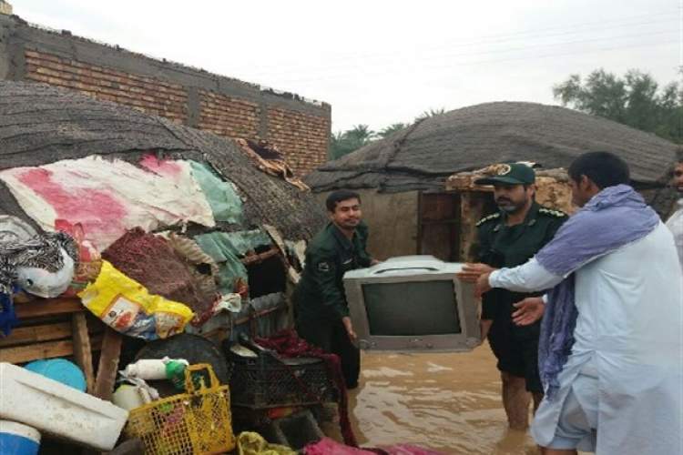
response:
<path id="1" fill-rule="evenodd" d="M 583 81 L 569 76 L 553 95 L 563 106 L 683 143 L 683 85 L 677 82 L 659 90 L 652 76 L 637 69 L 623 77 L 597 69 Z"/>

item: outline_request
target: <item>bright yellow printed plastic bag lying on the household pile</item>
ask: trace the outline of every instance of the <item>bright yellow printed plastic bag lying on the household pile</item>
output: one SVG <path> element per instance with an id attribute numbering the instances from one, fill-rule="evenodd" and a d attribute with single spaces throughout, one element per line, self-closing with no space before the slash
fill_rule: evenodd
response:
<path id="1" fill-rule="evenodd" d="M 149 294 L 106 260 L 95 282 L 78 297 L 107 326 L 141 339 L 165 339 L 183 331 L 194 316 L 182 303 Z"/>

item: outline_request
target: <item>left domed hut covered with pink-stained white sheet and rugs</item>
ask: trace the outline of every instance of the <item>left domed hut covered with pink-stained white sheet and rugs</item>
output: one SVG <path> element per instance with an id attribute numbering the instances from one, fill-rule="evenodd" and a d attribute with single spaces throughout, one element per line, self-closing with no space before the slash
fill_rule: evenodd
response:
<path id="1" fill-rule="evenodd" d="M 277 150 L 262 146 L 53 86 L 0 81 L 0 224 L 10 216 L 37 232 L 82 225 L 102 258 L 133 262 L 123 270 L 129 278 L 189 306 L 192 331 L 267 335 L 288 323 L 296 258 L 326 218 L 286 164 L 271 159 Z M 163 255 L 145 248 L 153 245 L 166 245 Z M 235 301 L 242 311 L 229 313 L 239 310 Z M 73 356 L 88 391 L 108 397 L 116 332 L 75 297 L 15 306 L 20 325 L 2 339 L 1 361 Z M 91 349 L 102 351 L 98 368 Z"/>

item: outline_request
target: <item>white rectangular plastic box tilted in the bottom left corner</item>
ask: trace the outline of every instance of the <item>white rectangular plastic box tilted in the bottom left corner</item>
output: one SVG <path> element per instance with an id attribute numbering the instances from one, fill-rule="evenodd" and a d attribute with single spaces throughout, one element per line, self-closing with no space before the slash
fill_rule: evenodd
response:
<path id="1" fill-rule="evenodd" d="M 128 411 L 11 363 L 0 362 L 0 419 L 96 450 L 112 450 Z"/>

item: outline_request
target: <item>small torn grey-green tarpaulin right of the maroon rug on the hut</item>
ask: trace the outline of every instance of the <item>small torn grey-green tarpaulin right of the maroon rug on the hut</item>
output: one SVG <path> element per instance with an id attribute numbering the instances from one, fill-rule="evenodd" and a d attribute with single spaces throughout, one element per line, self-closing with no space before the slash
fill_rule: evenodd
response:
<path id="1" fill-rule="evenodd" d="M 235 247 L 226 232 L 209 232 L 195 237 L 199 247 L 219 265 L 219 292 L 235 291 L 235 279 L 248 281 L 247 268 L 240 261 L 240 249 Z"/>

